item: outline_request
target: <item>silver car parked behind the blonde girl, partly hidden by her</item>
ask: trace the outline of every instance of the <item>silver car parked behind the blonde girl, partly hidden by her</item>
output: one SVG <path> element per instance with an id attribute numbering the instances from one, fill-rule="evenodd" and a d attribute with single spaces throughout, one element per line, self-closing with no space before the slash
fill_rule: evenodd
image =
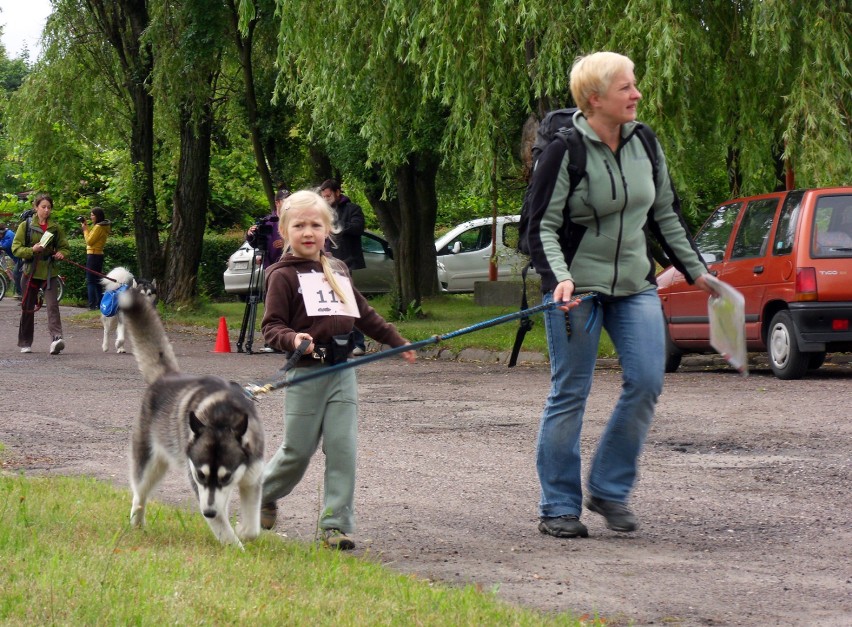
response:
<path id="1" fill-rule="evenodd" d="M 387 241 L 375 233 L 365 231 L 361 236 L 361 246 L 364 249 L 364 263 L 367 267 L 352 273 L 355 287 L 362 294 L 384 294 L 391 291 L 394 283 L 393 253 Z M 228 264 L 222 276 L 227 294 L 238 294 L 242 298 L 248 294 L 253 257 L 254 249 L 248 242 L 243 242 L 243 245 L 228 258 Z M 255 273 L 258 270 L 260 266 L 255 267 Z M 256 274 L 255 276 L 257 277 Z M 255 281 L 257 280 L 258 278 L 255 278 Z M 263 281 L 260 280 L 260 283 L 255 285 L 262 285 L 262 283 Z"/>

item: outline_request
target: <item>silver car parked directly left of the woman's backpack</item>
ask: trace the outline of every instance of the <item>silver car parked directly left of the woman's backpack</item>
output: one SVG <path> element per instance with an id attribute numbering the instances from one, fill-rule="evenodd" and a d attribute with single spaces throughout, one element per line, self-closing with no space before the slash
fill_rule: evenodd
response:
<path id="1" fill-rule="evenodd" d="M 497 280 L 519 280 L 529 258 L 517 251 L 520 216 L 497 218 Z M 476 281 L 488 280 L 492 219 L 479 218 L 454 227 L 435 241 L 438 281 L 445 292 L 472 292 Z M 528 276 L 538 276 L 530 269 Z"/>

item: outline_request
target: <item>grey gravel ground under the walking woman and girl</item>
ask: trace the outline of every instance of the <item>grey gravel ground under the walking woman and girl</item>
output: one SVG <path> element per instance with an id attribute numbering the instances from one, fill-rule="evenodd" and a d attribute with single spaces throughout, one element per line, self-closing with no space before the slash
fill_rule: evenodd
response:
<path id="1" fill-rule="evenodd" d="M 21 355 L 17 305 L 0 301 L 0 463 L 126 487 L 143 391 L 133 357 L 103 354 L 99 325 L 70 321 L 79 310 L 65 307 L 66 351 L 47 354 L 40 312 L 34 352 Z M 186 372 L 247 383 L 282 363 L 213 353 L 209 331 L 170 336 Z M 639 531 L 611 532 L 585 512 L 590 537 L 559 540 L 536 529 L 546 365 L 508 370 L 487 363 L 490 354 L 476 363 L 436 353 L 413 366 L 395 357 L 359 370 L 356 554 L 611 624 L 852 625 L 852 366 L 844 356 L 801 381 L 779 381 L 759 361 L 741 378 L 718 359 L 684 359 L 667 375 L 643 454 L 633 497 Z M 584 460 L 619 387 L 617 365 L 602 361 Z M 259 404 L 267 457 L 281 442 L 283 399 L 277 392 Z M 312 537 L 322 470 L 318 454 L 281 502 L 276 533 Z M 156 498 L 195 507 L 181 472 Z"/>

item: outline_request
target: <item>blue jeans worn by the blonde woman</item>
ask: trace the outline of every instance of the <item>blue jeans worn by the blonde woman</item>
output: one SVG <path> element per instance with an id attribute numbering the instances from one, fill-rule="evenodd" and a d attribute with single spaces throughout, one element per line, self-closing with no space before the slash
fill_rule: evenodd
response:
<path id="1" fill-rule="evenodd" d="M 546 294 L 544 302 L 552 301 L 553 294 Z M 536 466 L 539 513 L 548 518 L 579 516 L 582 511 L 580 431 L 601 328 L 618 352 L 623 382 L 592 459 L 587 483 L 592 496 L 627 500 L 665 376 L 665 331 L 656 290 L 584 301 L 567 315 L 570 334 L 563 311 L 545 313 L 551 387 L 541 416 Z"/>

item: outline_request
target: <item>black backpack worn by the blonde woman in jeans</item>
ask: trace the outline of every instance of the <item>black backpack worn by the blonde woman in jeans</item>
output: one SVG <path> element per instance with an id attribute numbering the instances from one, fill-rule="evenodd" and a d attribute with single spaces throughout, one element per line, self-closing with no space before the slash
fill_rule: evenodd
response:
<path id="1" fill-rule="evenodd" d="M 577 107 L 569 107 L 567 109 L 556 109 L 550 111 L 544 116 L 544 119 L 538 125 L 538 131 L 535 135 L 535 143 L 532 147 L 532 170 L 535 172 L 538 158 L 550 142 L 559 140 L 565 142 L 568 150 L 568 177 L 570 179 L 568 196 L 574 193 L 580 181 L 586 176 L 586 145 L 583 143 L 583 138 L 574 128 L 574 114 L 577 112 Z M 644 124 L 637 124 L 635 130 L 636 136 L 645 147 L 648 153 L 648 158 L 651 160 L 651 169 L 653 171 L 654 180 L 657 179 L 659 171 L 659 162 L 657 161 L 657 136 L 654 131 Z M 530 192 L 532 176 L 530 176 L 530 184 L 527 184 L 527 190 L 524 192 L 524 201 L 521 205 L 521 219 L 518 222 L 518 251 L 529 255 L 530 246 L 527 238 L 530 224 Z M 567 200 L 566 200 L 567 202 Z M 523 279 L 523 295 L 521 297 L 521 311 L 529 308 L 527 302 L 527 272 L 532 267 L 532 262 L 528 263 L 521 271 Z M 521 344 L 524 342 L 524 336 L 527 331 L 532 329 L 533 321 L 530 317 L 522 317 L 519 321 L 518 332 L 515 335 L 515 345 L 512 347 L 512 355 L 509 358 L 509 368 L 512 368 L 518 362 L 518 353 L 521 351 Z"/>

